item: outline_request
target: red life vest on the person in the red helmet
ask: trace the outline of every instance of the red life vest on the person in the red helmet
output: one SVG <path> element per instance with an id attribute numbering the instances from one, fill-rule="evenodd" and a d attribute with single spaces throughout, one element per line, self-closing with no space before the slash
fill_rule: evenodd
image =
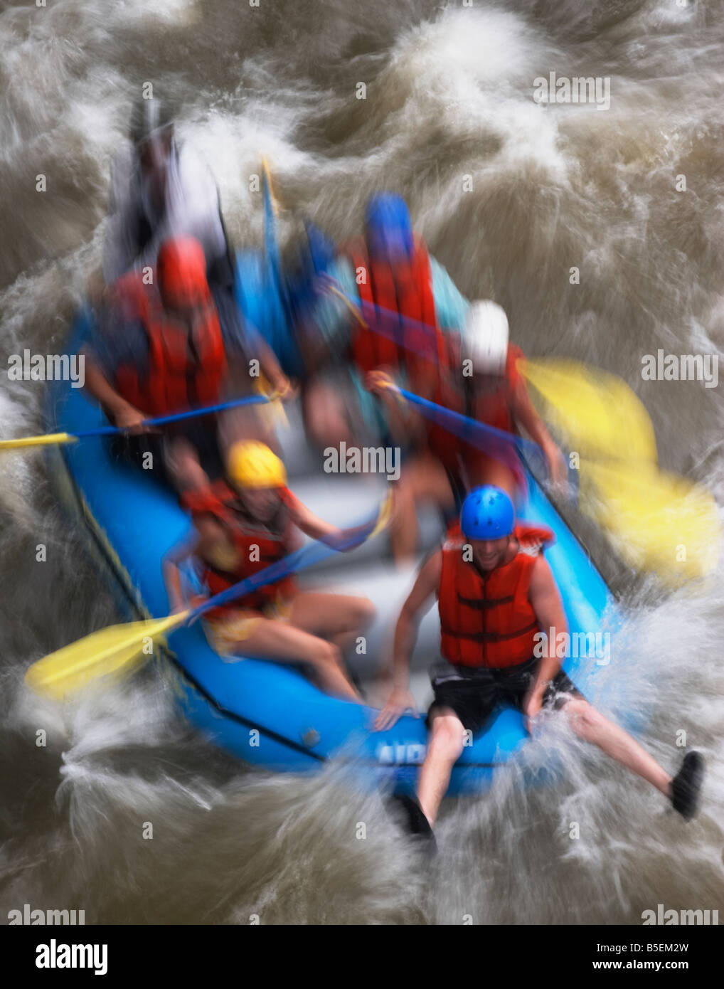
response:
<path id="1" fill-rule="evenodd" d="M 136 272 L 116 284 L 115 299 L 124 319 L 139 319 L 148 338 L 148 366 L 116 371 L 118 393 L 142 412 L 166 415 L 195 405 L 219 402 L 226 376 L 226 352 L 219 315 L 209 294 L 203 315 L 191 330 L 163 310 L 158 290 Z"/>

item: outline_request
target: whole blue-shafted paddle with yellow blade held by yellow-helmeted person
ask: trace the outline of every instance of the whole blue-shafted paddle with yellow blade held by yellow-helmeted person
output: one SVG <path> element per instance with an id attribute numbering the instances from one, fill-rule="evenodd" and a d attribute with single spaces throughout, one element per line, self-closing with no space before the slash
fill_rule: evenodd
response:
<path id="1" fill-rule="evenodd" d="M 166 633 L 188 625 L 210 608 L 226 604 L 264 584 L 274 584 L 290 574 L 314 566 L 334 553 L 352 549 L 372 539 L 388 524 L 390 511 L 391 497 L 388 495 L 373 518 L 346 530 L 342 533 L 342 538 L 327 537 L 323 541 L 317 540 L 303 546 L 258 574 L 207 598 L 196 607 L 166 615 L 164 618 L 112 625 L 92 632 L 34 663 L 25 675 L 25 681 L 39 693 L 60 700 L 96 677 L 130 672 L 146 656 L 152 655 L 155 643 L 162 643 Z"/>

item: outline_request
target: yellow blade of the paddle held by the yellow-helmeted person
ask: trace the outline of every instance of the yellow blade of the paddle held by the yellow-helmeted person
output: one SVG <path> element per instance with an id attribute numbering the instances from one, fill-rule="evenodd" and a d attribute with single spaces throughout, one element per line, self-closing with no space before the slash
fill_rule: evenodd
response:
<path id="1" fill-rule="evenodd" d="M 97 676 L 132 669 L 152 655 L 163 634 L 182 625 L 190 612 L 100 629 L 34 663 L 26 683 L 55 700 L 81 689 Z"/>

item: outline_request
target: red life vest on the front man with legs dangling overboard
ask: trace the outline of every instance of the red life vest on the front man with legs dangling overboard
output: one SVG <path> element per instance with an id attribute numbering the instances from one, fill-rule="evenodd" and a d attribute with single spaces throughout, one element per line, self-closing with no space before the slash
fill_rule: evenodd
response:
<path id="1" fill-rule="evenodd" d="M 467 540 L 460 526 L 449 531 L 438 593 L 440 650 L 448 663 L 498 670 L 533 656 L 540 629 L 528 589 L 538 553 L 554 536 L 545 527 L 522 524 L 513 535 L 518 552 L 484 575 L 463 559 Z"/>

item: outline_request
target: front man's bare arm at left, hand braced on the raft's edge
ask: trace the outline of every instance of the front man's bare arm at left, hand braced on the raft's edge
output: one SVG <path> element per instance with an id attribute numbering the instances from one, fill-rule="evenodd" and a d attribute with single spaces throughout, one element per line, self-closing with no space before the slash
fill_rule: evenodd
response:
<path id="1" fill-rule="evenodd" d="M 414 699 L 409 692 L 409 664 L 412 659 L 417 628 L 422 615 L 429 610 L 440 586 L 442 552 L 438 551 L 424 564 L 395 626 L 393 689 L 385 707 L 375 721 L 375 729 L 392 728 L 408 709 L 416 715 Z"/>

